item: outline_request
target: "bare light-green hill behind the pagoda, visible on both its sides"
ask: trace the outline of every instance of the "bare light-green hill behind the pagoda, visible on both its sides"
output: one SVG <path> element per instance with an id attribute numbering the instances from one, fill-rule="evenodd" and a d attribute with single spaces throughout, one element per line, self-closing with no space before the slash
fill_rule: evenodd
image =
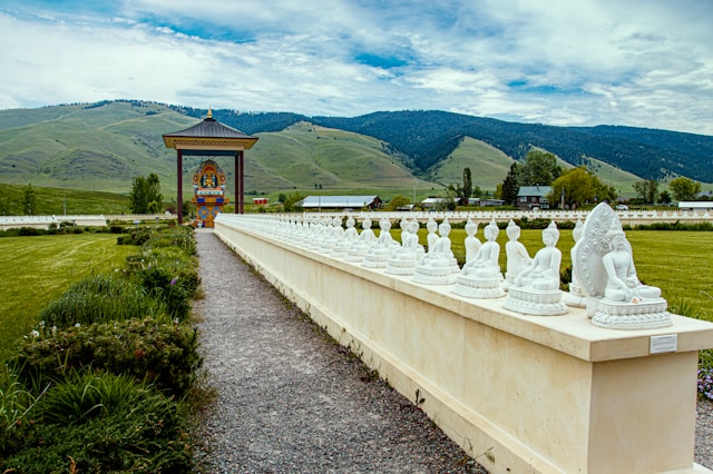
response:
<path id="1" fill-rule="evenodd" d="M 0 182 L 128 194 L 134 176 L 156 172 L 165 197 L 175 198 L 176 156 L 162 136 L 196 121 L 167 106 L 137 101 L 0 111 Z M 322 192 L 371 188 L 388 197 L 436 186 L 416 178 L 371 137 L 307 122 L 256 136 L 245 154 L 245 189 L 253 194 L 321 185 Z M 185 158 L 184 189 L 201 160 Z M 232 180 L 234 160 L 217 161 Z"/>

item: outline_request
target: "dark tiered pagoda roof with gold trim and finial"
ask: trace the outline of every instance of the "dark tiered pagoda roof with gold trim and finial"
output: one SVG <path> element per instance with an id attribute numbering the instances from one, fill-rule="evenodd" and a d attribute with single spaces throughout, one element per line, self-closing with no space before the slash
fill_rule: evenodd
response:
<path id="1" fill-rule="evenodd" d="M 234 155 L 235 151 L 252 148 L 256 141 L 257 137 L 215 120 L 211 111 L 193 127 L 164 134 L 166 148 L 182 150 L 185 155 Z"/>

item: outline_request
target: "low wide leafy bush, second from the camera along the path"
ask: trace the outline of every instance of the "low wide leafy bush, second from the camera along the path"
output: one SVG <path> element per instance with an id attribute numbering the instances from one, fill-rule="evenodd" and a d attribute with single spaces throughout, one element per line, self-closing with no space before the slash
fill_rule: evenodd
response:
<path id="1" fill-rule="evenodd" d="M 41 385 L 71 371 L 128 375 L 183 396 L 194 384 L 203 359 L 195 328 L 152 319 L 53 329 L 40 326 L 23 339 L 10 365 L 20 379 Z"/>

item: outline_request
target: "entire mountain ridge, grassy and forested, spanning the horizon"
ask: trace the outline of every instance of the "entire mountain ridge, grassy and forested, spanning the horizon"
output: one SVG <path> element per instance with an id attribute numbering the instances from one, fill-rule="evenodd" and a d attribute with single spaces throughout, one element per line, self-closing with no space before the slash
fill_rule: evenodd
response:
<path id="1" fill-rule="evenodd" d="M 128 192 L 133 176 L 157 172 L 170 195 L 175 152 L 165 148 L 162 135 L 195 125 L 206 113 L 141 100 L 0 110 L 0 182 Z M 494 189 L 509 160 L 522 159 L 530 147 L 572 166 L 606 167 L 626 189 L 635 177 L 713 182 L 713 137 L 670 130 L 554 127 L 440 110 L 349 118 L 217 109 L 213 117 L 260 137 L 246 154 L 246 189 L 260 194 L 320 186 L 333 192 L 412 188 L 416 194 L 459 182 L 458 168 L 465 166 L 482 171 L 473 172 L 481 179 L 475 185 Z M 292 168 L 284 168 L 287 164 Z M 187 160 L 184 177 L 195 166 Z M 234 172 L 231 164 L 225 169 Z M 626 176 L 617 178 L 619 171 Z"/>

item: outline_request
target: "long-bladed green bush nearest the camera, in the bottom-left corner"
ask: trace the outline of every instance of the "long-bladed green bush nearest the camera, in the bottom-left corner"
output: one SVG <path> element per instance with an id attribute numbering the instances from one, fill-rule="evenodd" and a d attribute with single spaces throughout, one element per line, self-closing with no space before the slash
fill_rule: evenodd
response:
<path id="1" fill-rule="evenodd" d="M 186 416 L 175 401 L 126 377 L 76 375 L 41 401 L 41 429 L 3 453 L 21 473 L 193 472 Z M 79 416 L 77 416 L 79 415 Z"/>

